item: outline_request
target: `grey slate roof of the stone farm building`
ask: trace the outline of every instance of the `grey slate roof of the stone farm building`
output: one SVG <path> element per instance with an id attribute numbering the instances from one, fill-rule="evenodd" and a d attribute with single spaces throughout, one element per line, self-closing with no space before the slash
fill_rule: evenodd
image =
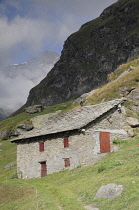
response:
<path id="1" fill-rule="evenodd" d="M 84 106 L 77 109 L 70 110 L 66 113 L 58 115 L 55 118 L 47 120 L 41 129 L 34 128 L 27 133 L 20 135 L 18 138 L 13 139 L 11 142 L 24 140 L 37 136 L 44 136 L 48 134 L 60 133 L 64 131 L 81 129 L 90 122 L 93 122 L 104 113 L 123 103 L 126 99 L 116 99 L 113 101 Z"/>

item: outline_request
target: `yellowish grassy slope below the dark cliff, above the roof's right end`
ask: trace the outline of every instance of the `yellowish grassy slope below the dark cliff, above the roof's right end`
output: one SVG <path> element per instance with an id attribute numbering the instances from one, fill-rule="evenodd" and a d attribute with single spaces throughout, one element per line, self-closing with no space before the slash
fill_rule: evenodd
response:
<path id="1" fill-rule="evenodd" d="M 109 75 L 112 80 L 108 84 L 96 89 L 87 99 L 86 105 L 97 104 L 104 101 L 109 101 L 114 98 L 121 98 L 120 90 L 124 87 L 138 86 L 139 81 L 139 59 L 130 61 L 127 64 L 120 65 L 114 73 Z M 120 76 L 127 71 L 130 66 L 136 67 L 128 74 Z"/>

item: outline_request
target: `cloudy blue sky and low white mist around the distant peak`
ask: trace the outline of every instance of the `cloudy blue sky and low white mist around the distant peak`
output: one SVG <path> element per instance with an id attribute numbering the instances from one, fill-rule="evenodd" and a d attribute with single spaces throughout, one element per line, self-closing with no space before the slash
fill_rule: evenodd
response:
<path id="1" fill-rule="evenodd" d="M 117 0 L 0 0 L 0 108 L 26 102 L 30 80 L 6 78 L 2 66 L 22 63 L 45 50 L 61 53 L 68 36 Z"/>

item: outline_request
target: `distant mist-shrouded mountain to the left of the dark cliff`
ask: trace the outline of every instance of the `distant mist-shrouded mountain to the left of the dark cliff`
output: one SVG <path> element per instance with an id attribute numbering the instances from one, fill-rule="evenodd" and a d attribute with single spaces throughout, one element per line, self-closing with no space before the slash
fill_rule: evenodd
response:
<path id="1" fill-rule="evenodd" d="M 0 108 L 10 113 L 21 107 L 29 90 L 53 68 L 59 55 L 45 51 L 27 62 L 0 68 Z"/>

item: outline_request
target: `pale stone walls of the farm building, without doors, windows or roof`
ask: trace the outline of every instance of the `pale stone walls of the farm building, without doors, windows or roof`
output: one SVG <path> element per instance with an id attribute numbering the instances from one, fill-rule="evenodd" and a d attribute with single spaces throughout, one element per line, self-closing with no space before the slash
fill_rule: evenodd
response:
<path id="1" fill-rule="evenodd" d="M 66 133 L 40 139 L 45 141 L 43 152 L 39 151 L 39 142 L 35 139 L 30 143 L 19 143 L 17 146 L 18 177 L 41 177 L 39 163 L 41 161 L 46 161 L 47 174 L 65 169 L 64 158 L 70 159 L 70 167 L 66 169 L 90 165 L 107 154 L 100 153 L 100 131 L 110 132 L 111 151 L 115 151 L 117 147 L 112 144 L 112 140 L 127 139 L 127 129 L 124 109 L 121 108 L 119 111 L 111 110 L 96 122 L 85 126 L 83 130 L 69 132 L 69 147 L 64 148 L 63 139 Z"/>

